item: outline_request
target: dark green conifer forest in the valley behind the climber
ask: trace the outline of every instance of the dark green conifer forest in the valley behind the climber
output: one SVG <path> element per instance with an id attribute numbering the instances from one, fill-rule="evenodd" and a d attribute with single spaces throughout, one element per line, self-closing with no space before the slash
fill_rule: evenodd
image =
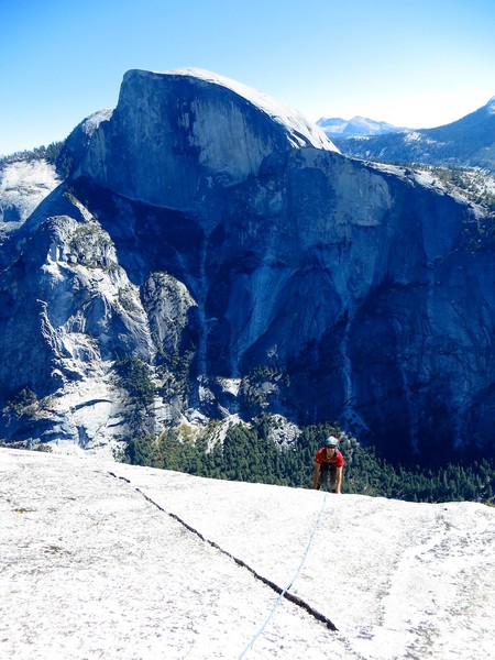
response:
<path id="1" fill-rule="evenodd" d="M 408 502 L 495 502 L 495 464 L 485 459 L 436 470 L 405 468 L 380 458 L 373 448 L 362 447 L 337 425 L 306 427 L 290 447 L 271 440 L 270 416 L 261 416 L 251 425 L 230 426 L 223 442 L 213 440 L 215 427 L 211 422 L 199 439 L 176 428 L 158 438 L 135 437 L 128 442 L 122 460 L 212 479 L 309 488 L 315 454 L 333 433 L 342 438 L 344 493 Z"/>

